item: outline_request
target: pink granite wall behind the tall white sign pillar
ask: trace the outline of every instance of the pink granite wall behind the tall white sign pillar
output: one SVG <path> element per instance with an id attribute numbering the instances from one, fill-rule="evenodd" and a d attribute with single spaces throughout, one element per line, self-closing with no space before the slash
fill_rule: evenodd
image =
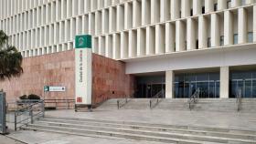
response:
<path id="1" fill-rule="evenodd" d="M 8 102 L 19 96 L 37 94 L 43 98 L 74 98 L 75 63 L 74 50 L 38 57 L 24 58 L 24 74 L 0 81 Z M 93 54 L 92 102 L 101 103 L 108 98 L 132 96 L 134 77 L 125 75 L 125 64 Z M 64 86 L 66 92 L 43 92 L 44 86 Z"/>

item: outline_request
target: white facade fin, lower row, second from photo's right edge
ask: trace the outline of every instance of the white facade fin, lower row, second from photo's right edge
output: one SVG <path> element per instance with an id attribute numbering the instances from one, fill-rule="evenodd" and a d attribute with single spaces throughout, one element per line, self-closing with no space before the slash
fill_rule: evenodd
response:
<path id="1" fill-rule="evenodd" d="M 238 19 L 238 35 L 239 44 L 247 42 L 247 11 L 245 8 L 239 9 L 239 19 Z"/>

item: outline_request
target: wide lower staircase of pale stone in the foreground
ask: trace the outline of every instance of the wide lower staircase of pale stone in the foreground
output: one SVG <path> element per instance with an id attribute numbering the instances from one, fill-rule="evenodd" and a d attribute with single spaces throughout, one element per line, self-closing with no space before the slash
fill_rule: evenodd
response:
<path id="1" fill-rule="evenodd" d="M 42 118 L 22 129 L 105 139 L 137 139 L 165 143 L 256 143 L 256 131 L 250 130 L 187 127 L 87 118 Z"/>

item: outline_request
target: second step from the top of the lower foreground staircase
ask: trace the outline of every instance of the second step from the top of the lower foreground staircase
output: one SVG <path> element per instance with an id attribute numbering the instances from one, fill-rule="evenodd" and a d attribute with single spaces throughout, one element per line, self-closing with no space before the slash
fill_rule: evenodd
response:
<path id="1" fill-rule="evenodd" d="M 120 124 L 108 124 L 108 123 L 92 123 L 92 122 L 83 122 L 80 124 L 73 124 L 67 122 L 52 122 L 52 121 L 39 121 L 39 125 L 47 126 L 60 126 L 67 128 L 82 128 L 82 129 L 104 129 L 112 130 L 115 132 L 127 131 L 127 130 L 147 130 L 152 132 L 169 132 L 169 133 L 178 133 L 178 134 L 191 134 L 198 136 L 211 136 L 211 137 L 220 137 L 220 138 L 230 138 L 230 139 L 251 139 L 255 140 L 256 135 L 244 135 L 244 134 L 232 134 L 226 132 L 212 132 L 212 131 L 203 131 L 203 130 L 190 130 L 190 129 L 165 129 L 157 127 L 144 127 L 138 125 L 120 125 Z"/>

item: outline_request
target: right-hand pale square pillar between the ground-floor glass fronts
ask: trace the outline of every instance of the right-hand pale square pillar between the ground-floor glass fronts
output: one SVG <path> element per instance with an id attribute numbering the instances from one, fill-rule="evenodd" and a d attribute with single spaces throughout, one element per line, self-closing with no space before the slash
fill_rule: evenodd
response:
<path id="1" fill-rule="evenodd" d="M 220 67 L 220 98 L 229 98 L 229 67 Z"/>

